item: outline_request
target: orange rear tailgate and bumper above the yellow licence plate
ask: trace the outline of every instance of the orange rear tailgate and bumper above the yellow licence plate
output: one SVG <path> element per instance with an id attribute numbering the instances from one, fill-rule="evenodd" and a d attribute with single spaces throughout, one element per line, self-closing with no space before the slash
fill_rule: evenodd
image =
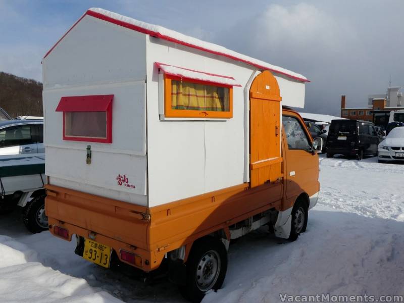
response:
<path id="1" fill-rule="evenodd" d="M 145 272 L 160 265 L 162 258 L 157 261 L 155 252 L 146 244 L 147 208 L 58 186 L 45 187 L 45 210 L 52 234 L 68 241 L 75 234 L 107 245 L 120 261 Z M 64 229 L 63 237 L 56 226 Z M 136 262 L 122 260 L 121 250 L 137 256 Z"/>

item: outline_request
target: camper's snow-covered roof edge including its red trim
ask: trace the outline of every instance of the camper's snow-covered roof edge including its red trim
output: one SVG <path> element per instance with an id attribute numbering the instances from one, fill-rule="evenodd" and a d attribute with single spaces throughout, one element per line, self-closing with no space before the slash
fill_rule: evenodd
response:
<path id="1" fill-rule="evenodd" d="M 46 58 L 47 55 L 49 55 L 53 49 L 58 45 L 58 43 L 72 30 L 72 28 L 80 22 L 81 19 L 83 19 L 86 15 L 102 19 L 104 21 L 108 21 L 141 33 L 145 33 L 157 38 L 161 38 L 167 41 L 171 41 L 174 43 L 178 43 L 181 45 L 185 45 L 188 47 L 196 48 L 199 49 L 200 51 L 208 52 L 211 54 L 219 55 L 219 56 L 224 56 L 232 60 L 236 60 L 239 62 L 243 62 L 252 66 L 255 66 L 259 69 L 262 70 L 270 70 L 278 74 L 285 75 L 289 78 L 299 80 L 301 82 L 310 82 L 305 76 L 289 71 L 287 69 L 266 63 L 264 61 L 254 59 L 245 55 L 242 55 L 240 53 L 231 51 L 230 49 L 227 49 L 226 47 L 220 46 L 218 44 L 206 42 L 203 40 L 199 40 L 190 36 L 186 36 L 184 34 L 181 34 L 179 32 L 167 29 L 165 27 L 159 26 L 159 25 L 154 25 L 154 24 L 149 24 L 145 23 L 142 21 L 138 21 L 136 19 L 122 16 L 117 13 L 113 13 L 104 9 L 100 8 L 91 8 L 89 9 L 81 18 L 62 36 L 62 38 L 51 48 L 49 51 L 46 53 L 46 55 L 43 57 L 43 59 Z"/>

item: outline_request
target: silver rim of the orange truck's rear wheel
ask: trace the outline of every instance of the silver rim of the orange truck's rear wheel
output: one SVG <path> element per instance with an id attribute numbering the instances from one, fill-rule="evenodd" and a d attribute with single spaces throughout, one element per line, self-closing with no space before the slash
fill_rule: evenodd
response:
<path id="1" fill-rule="evenodd" d="M 220 266 L 220 257 L 215 250 L 209 250 L 200 258 L 195 275 L 199 290 L 208 291 L 215 285 L 219 277 Z"/>

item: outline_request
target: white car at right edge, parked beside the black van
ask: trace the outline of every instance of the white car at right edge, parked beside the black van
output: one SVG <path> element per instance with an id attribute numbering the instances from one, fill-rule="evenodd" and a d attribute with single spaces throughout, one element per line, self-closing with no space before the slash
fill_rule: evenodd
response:
<path id="1" fill-rule="evenodd" d="M 393 128 L 377 147 L 379 163 L 404 161 L 404 126 Z"/>

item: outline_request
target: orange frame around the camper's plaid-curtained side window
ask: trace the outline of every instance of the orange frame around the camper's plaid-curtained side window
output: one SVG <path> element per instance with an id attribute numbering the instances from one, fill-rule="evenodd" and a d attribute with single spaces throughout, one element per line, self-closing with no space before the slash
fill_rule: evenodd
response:
<path id="1" fill-rule="evenodd" d="M 229 111 L 216 112 L 216 111 L 172 109 L 172 97 L 171 97 L 171 87 L 172 87 L 171 81 L 172 80 L 228 88 L 229 89 Z M 233 118 L 233 86 L 164 74 L 164 116 L 166 118 L 216 118 L 216 119 Z"/>

